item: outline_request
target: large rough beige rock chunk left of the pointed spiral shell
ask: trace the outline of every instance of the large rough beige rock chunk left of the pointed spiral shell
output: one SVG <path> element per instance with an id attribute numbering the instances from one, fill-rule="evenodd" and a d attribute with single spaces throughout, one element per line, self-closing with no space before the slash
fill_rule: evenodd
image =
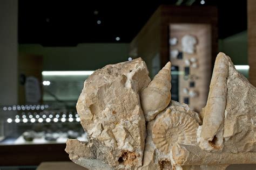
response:
<path id="1" fill-rule="evenodd" d="M 150 82 L 148 74 L 139 58 L 98 69 L 84 83 L 77 112 L 87 145 L 111 167 L 142 166 L 146 128 L 139 93 Z"/>

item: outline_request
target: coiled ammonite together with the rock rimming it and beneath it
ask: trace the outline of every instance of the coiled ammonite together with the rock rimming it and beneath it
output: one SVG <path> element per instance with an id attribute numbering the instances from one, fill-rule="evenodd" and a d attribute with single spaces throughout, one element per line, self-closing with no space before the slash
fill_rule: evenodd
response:
<path id="1" fill-rule="evenodd" d="M 187 104 L 171 101 L 147 124 L 147 138 L 142 169 L 172 169 L 171 148 L 177 143 L 196 145 L 201 120 Z"/>

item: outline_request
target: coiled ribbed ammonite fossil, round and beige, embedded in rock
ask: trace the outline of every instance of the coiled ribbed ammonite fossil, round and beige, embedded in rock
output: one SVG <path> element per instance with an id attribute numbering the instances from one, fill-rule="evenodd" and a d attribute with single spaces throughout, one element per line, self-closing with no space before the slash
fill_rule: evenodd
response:
<path id="1" fill-rule="evenodd" d="M 157 117 L 152 129 L 153 143 L 158 150 L 169 154 L 173 144 L 196 144 L 199 124 L 185 112 L 167 109 Z"/>

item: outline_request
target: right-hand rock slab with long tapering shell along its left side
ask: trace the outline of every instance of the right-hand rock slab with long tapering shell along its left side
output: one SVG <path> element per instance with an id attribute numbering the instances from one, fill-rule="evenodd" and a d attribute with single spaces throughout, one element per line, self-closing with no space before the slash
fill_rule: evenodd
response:
<path id="1" fill-rule="evenodd" d="M 200 147 L 206 151 L 256 152 L 256 89 L 219 53 L 211 80 Z"/>

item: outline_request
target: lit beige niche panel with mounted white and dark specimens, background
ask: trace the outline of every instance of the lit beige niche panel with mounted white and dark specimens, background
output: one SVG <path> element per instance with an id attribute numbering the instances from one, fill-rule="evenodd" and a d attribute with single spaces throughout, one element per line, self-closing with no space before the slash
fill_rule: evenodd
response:
<path id="1" fill-rule="evenodd" d="M 169 29 L 172 100 L 199 112 L 206 104 L 211 80 L 211 26 L 170 24 Z"/>

